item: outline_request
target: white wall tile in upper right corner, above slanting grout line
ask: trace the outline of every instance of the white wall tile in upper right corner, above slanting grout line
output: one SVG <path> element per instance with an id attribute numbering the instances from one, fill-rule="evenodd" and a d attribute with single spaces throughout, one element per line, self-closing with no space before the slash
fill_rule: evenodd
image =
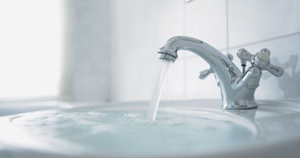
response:
<path id="1" fill-rule="evenodd" d="M 300 32 L 299 0 L 228 0 L 229 47 Z"/>

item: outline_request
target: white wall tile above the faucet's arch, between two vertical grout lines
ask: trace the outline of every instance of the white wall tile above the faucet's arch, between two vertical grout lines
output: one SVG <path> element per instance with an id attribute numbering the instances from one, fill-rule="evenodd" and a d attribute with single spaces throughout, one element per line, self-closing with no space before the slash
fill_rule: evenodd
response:
<path id="1" fill-rule="evenodd" d="M 185 3 L 186 36 L 200 39 L 217 49 L 226 48 L 226 1 L 195 0 Z M 193 54 L 187 53 L 187 56 Z"/>

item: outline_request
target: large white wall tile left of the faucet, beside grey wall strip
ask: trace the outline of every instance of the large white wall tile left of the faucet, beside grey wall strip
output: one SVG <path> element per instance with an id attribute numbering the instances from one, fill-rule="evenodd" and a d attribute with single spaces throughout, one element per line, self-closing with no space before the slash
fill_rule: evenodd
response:
<path id="1" fill-rule="evenodd" d="M 116 0 L 112 3 L 112 100 L 149 100 L 156 53 L 182 35 L 182 0 Z M 180 83 L 180 82 L 178 82 Z"/>

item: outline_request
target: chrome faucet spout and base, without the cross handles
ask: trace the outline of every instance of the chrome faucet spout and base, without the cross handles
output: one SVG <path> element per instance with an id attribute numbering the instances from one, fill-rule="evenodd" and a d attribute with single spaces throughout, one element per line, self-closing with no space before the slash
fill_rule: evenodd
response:
<path id="1" fill-rule="evenodd" d="M 254 100 L 255 88 L 245 87 L 240 81 L 243 74 L 216 48 L 195 38 L 175 36 L 169 39 L 157 52 L 158 58 L 175 60 L 177 51 L 187 50 L 202 57 L 214 70 L 221 88 L 223 105 L 226 109 L 247 109 L 257 107 Z"/>

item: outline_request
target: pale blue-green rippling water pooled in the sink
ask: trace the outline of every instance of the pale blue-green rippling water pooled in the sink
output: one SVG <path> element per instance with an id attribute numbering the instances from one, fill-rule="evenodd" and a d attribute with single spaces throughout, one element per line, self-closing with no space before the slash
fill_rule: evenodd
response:
<path id="1" fill-rule="evenodd" d="M 36 112 L 13 119 L 12 124 L 53 149 L 104 156 L 187 156 L 253 138 L 242 125 L 201 116 L 162 108 L 151 121 L 146 110 L 81 109 Z"/>

